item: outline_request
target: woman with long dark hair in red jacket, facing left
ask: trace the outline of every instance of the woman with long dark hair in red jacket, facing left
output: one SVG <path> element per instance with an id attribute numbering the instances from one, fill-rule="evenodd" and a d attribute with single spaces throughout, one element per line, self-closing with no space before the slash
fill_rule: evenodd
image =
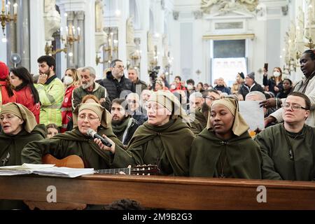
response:
<path id="1" fill-rule="evenodd" d="M 39 124 L 41 109 L 39 95 L 29 71 L 23 66 L 10 69 L 10 83 L 16 92 L 16 102 L 27 107 L 34 114 L 36 122 Z"/>

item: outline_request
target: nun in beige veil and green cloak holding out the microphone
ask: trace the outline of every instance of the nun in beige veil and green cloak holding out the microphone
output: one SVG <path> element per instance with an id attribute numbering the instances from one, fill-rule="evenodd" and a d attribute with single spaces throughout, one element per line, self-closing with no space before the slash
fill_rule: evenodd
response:
<path id="1" fill-rule="evenodd" d="M 134 132 L 127 151 L 111 151 L 112 166 L 151 164 L 158 165 L 164 175 L 188 176 L 195 136 L 179 100 L 168 91 L 154 92 L 148 99 L 147 113 L 148 121 Z"/>

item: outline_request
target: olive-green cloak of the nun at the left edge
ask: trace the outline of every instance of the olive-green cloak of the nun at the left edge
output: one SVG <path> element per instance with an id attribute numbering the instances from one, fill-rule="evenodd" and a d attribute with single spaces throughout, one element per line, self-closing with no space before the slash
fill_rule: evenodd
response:
<path id="1" fill-rule="evenodd" d="M 22 130 L 15 135 L 0 133 L 0 167 L 3 162 L 6 166 L 22 165 L 22 149 L 31 141 L 45 139 L 45 125 L 37 125 L 31 133 Z"/>

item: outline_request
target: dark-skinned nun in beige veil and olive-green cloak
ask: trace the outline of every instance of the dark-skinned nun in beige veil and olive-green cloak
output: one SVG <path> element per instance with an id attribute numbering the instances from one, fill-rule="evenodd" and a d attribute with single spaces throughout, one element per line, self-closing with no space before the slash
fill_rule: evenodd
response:
<path id="1" fill-rule="evenodd" d="M 193 141 L 190 176 L 261 179 L 262 157 L 235 99 L 211 104 L 207 128 Z"/>

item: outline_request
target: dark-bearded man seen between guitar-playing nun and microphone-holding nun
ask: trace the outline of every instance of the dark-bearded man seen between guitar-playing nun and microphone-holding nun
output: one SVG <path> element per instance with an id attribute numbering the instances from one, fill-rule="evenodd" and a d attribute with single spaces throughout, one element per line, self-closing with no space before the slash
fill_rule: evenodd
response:
<path id="1" fill-rule="evenodd" d="M 111 116 L 113 116 L 111 119 L 111 127 L 118 139 L 127 146 L 134 132 L 139 127 L 139 123 L 126 113 L 124 108 L 125 104 L 127 103 L 123 98 L 113 99 L 111 102 Z"/>

